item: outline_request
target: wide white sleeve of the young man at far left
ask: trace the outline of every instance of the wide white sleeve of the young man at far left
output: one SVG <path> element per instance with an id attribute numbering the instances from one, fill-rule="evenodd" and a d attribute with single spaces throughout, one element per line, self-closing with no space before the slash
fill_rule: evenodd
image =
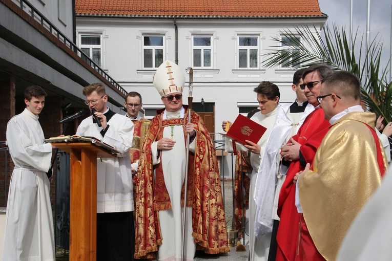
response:
<path id="1" fill-rule="evenodd" d="M 43 140 L 39 141 L 42 143 L 40 145 L 34 144 L 31 137 L 28 137 L 23 131 L 19 120 L 12 119 L 7 124 L 7 144 L 12 158 L 20 165 L 31 166 L 47 172 L 52 158 L 52 145 L 50 143 L 44 144 Z M 38 137 L 34 138 L 37 139 Z"/>

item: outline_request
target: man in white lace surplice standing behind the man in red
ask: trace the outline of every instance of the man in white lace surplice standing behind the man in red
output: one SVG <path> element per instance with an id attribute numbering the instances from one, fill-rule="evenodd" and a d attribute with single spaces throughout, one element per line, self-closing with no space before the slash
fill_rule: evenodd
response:
<path id="1" fill-rule="evenodd" d="M 298 70 L 293 77 L 292 89 L 296 93 L 295 102 L 283 104 L 276 114 L 275 124 L 257 173 L 255 193 L 250 195 L 257 205 L 254 225 L 256 237 L 261 238 L 263 234 L 272 232 L 269 260 L 275 260 L 276 257 L 276 233 L 279 224 L 276 211 L 279 190 L 286 177 L 279 174 L 280 147 L 297 134 L 306 116 L 314 111 L 314 107 L 308 103 L 304 91 L 299 86 L 303 83 L 304 71 L 305 69 Z"/>

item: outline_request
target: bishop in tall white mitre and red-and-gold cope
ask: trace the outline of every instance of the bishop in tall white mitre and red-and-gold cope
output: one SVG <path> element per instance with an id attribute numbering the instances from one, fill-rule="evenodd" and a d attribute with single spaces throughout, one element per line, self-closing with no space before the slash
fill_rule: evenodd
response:
<path id="1" fill-rule="evenodd" d="M 136 258 L 181 258 L 183 194 L 187 192 L 184 260 L 196 245 L 207 253 L 228 252 L 223 198 L 212 139 L 199 115 L 182 104 L 183 69 L 164 61 L 153 77 L 164 109 L 152 119 L 137 171 Z M 185 169 L 187 135 L 189 168 Z M 188 191 L 184 191 L 188 171 Z M 205 231 L 209 231 L 205 233 Z"/>

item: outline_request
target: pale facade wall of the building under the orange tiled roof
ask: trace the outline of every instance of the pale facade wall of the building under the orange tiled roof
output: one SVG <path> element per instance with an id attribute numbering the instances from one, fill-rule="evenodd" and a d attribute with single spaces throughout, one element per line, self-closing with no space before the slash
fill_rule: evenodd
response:
<path id="1" fill-rule="evenodd" d="M 292 102 L 294 70 L 264 68 L 238 70 L 237 36 L 252 34 L 260 37 L 260 54 L 278 43 L 280 30 L 294 30 L 294 25 L 315 23 L 321 28 L 325 19 L 177 19 L 178 65 L 192 65 L 192 34 L 213 35 L 212 70 L 194 69 L 193 101 L 215 102 L 215 132 L 221 131 L 223 120 L 233 121 L 238 115 L 237 102 L 257 102 L 253 89 L 260 81 L 272 81 L 279 86 L 282 102 Z M 77 32 L 102 34 L 102 67 L 128 92 L 139 92 L 144 105 L 162 104 L 152 85 L 154 70 L 142 70 L 142 35 L 161 33 L 166 37 L 164 59 L 175 61 L 175 27 L 173 19 L 152 18 L 88 18 L 77 17 Z M 313 28 L 313 27 L 312 27 Z M 260 63 L 263 57 L 260 56 Z M 186 75 L 188 79 L 188 75 Z M 188 83 L 185 83 L 188 86 Z M 188 88 L 184 89 L 184 98 Z M 186 102 L 186 99 L 184 100 Z"/>

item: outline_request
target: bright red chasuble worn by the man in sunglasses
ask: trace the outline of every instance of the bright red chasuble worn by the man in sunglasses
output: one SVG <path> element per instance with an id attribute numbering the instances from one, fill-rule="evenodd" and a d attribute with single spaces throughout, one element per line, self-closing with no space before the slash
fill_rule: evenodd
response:
<path id="1" fill-rule="evenodd" d="M 324 111 L 319 108 L 306 117 L 297 135 L 293 136 L 293 139 L 301 144 L 301 154 L 307 163 L 313 163 L 316 150 L 328 132 L 330 125 L 324 119 Z M 300 214 L 295 206 L 295 184 L 293 181 L 296 173 L 304 168 L 299 160 L 292 162 L 279 192 L 278 215 L 280 216 L 280 222 L 276 236 L 278 243 L 277 261 L 292 261 L 296 257 Z"/>

